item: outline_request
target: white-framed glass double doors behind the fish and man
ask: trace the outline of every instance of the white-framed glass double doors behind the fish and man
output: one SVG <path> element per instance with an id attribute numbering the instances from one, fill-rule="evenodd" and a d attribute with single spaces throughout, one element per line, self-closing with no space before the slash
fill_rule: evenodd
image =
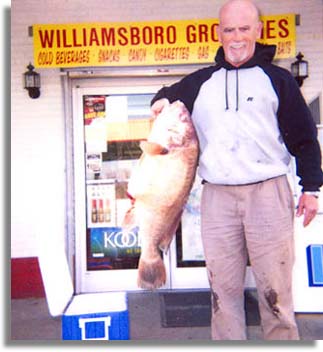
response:
<path id="1" fill-rule="evenodd" d="M 127 183 L 152 125 L 150 101 L 163 84 L 178 79 L 72 87 L 76 293 L 138 290 L 138 229 L 125 234 L 121 226 L 130 206 Z M 197 177 L 163 255 L 162 289 L 209 287 L 199 229 L 200 181 Z"/>

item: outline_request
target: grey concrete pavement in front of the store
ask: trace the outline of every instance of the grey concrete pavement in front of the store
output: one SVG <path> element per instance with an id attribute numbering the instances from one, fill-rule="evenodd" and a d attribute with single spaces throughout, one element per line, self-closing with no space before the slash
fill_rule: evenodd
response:
<path id="1" fill-rule="evenodd" d="M 188 341 L 210 340 L 210 327 L 163 327 L 160 295 L 151 292 L 128 293 L 131 340 Z M 302 340 L 323 339 L 323 314 L 297 314 Z M 261 340 L 259 325 L 247 327 L 249 340 Z M 11 335 L 11 338 L 10 338 Z M 10 340 L 61 340 L 61 318 L 49 315 L 46 299 L 11 301 Z"/>

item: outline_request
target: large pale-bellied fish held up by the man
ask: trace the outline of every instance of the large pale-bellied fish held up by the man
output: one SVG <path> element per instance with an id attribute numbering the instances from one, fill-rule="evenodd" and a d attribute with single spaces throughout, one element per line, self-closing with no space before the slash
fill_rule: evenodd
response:
<path id="1" fill-rule="evenodd" d="M 160 250 L 169 248 L 197 167 L 198 140 L 182 102 L 166 104 L 140 147 L 143 153 L 128 184 L 132 207 L 124 226 L 139 226 L 138 286 L 155 289 L 166 282 Z"/>

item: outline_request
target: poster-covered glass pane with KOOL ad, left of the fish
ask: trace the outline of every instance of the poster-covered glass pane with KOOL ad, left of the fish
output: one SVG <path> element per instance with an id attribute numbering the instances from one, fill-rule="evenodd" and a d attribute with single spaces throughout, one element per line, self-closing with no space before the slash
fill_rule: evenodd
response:
<path id="1" fill-rule="evenodd" d="M 138 229 L 122 231 L 127 184 L 151 128 L 152 94 L 83 96 L 87 270 L 137 268 Z"/>

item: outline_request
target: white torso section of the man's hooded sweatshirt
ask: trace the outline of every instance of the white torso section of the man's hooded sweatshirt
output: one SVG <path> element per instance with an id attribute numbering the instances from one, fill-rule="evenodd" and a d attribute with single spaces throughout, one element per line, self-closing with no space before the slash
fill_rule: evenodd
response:
<path id="1" fill-rule="evenodd" d="M 200 177 L 239 185 L 286 174 L 290 154 L 277 109 L 278 97 L 261 68 L 214 72 L 201 86 L 192 111 Z"/>

